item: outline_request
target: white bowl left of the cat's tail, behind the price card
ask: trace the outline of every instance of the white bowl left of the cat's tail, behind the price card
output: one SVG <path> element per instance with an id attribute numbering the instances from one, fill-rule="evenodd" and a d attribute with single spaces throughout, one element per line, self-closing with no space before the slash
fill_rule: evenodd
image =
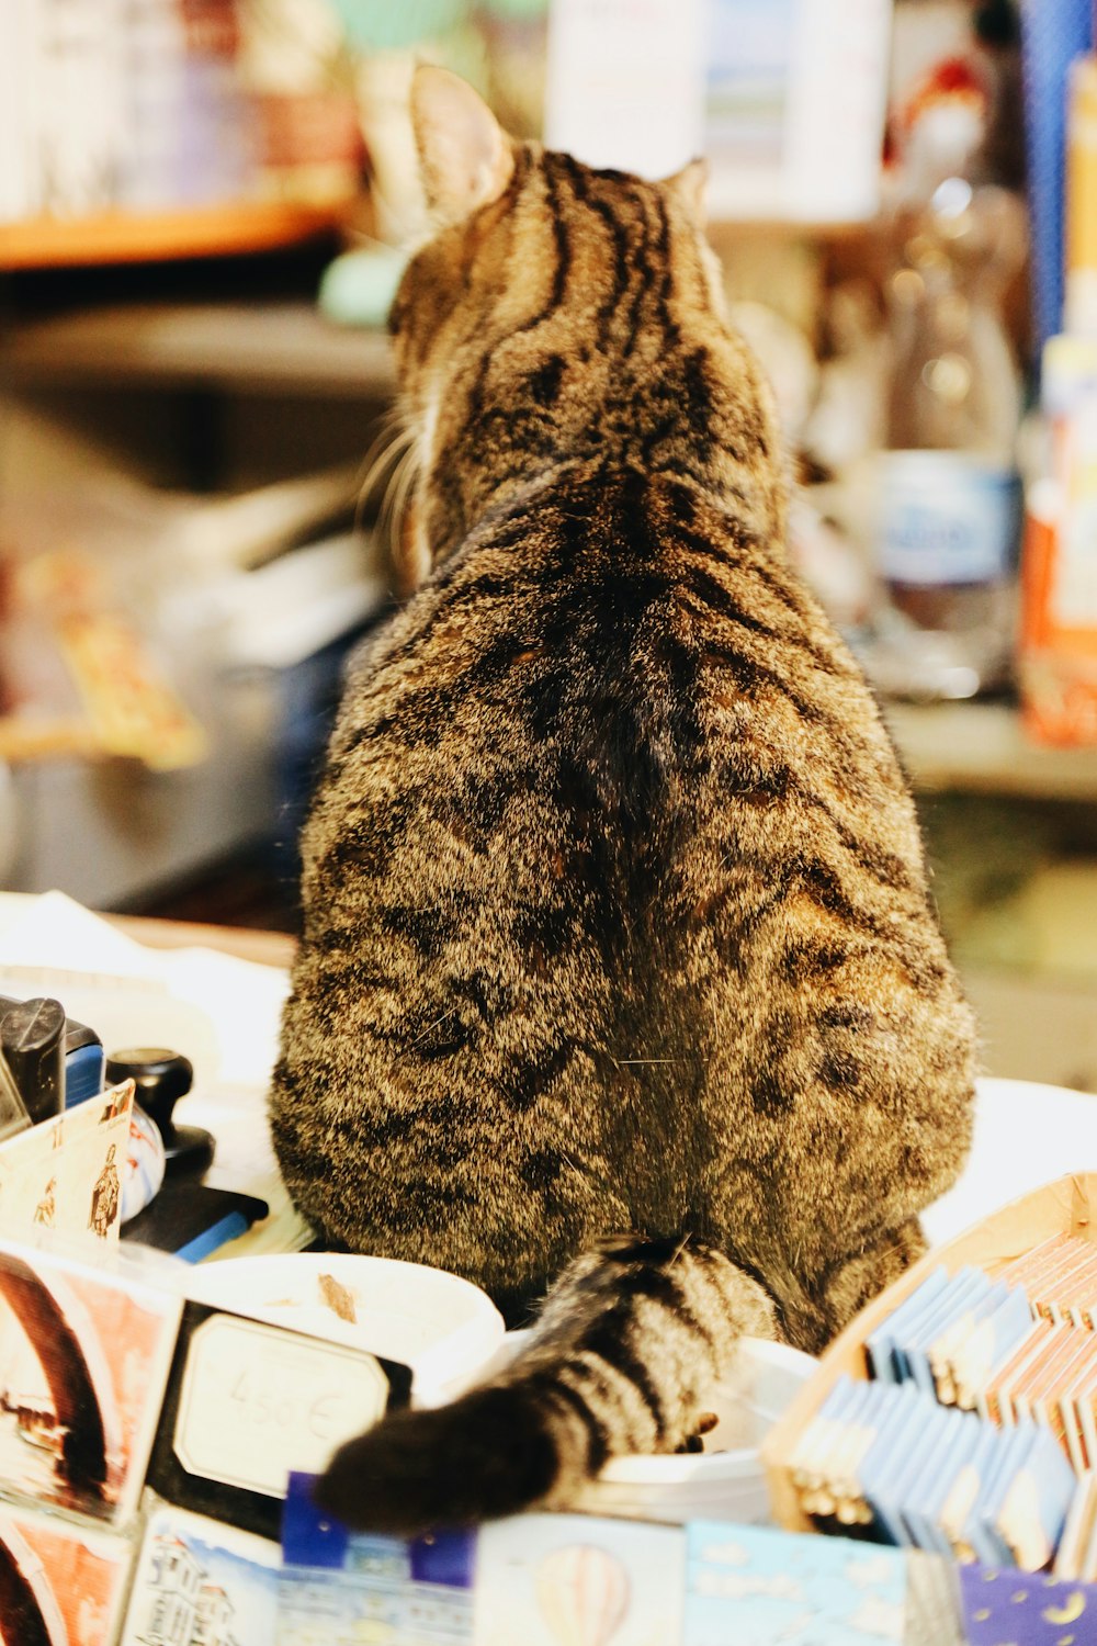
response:
<path id="1" fill-rule="evenodd" d="M 322 1276 L 349 1295 L 354 1320 L 324 1302 Z M 187 1295 L 401 1361 L 411 1366 L 413 1406 L 441 1406 L 461 1394 L 505 1333 L 495 1304 L 469 1281 L 352 1253 L 227 1258 L 194 1269 Z"/>

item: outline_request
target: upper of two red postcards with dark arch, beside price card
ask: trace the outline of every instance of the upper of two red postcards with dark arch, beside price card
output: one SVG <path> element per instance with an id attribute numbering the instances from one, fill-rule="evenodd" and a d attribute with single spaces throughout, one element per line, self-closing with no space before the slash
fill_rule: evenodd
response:
<path id="1" fill-rule="evenodd" d="M 122 1524 L 145 1480 L 181 1300 L 0 1239 L 3 1493 Z"/>

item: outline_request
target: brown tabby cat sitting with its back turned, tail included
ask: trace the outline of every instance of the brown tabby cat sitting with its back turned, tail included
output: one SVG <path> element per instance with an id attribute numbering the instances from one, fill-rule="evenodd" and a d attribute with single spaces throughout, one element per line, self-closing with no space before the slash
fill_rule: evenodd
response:
<path id="1" fill-rule="evenodd" d="M 697 168 L 513 145 L 439 69 L 413 117 L 421 584 L 306 828 L 273 1134 L 331 1244 L 511 1322 L 551 1290 L 508 1374 L 334 1460 L 321 1501 L 403 1532 L 678 1447 L 743 1332 L 819 1350 L 921 1251 L 974 1075 L 906 783 L 785 561 Z"/>

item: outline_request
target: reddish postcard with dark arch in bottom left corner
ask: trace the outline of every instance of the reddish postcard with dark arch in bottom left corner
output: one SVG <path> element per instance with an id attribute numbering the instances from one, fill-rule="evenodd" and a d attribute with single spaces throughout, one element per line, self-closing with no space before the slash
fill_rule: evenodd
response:
<path id="1" fill-rule="evenodd" d="M 113 1646 L 133 1567 L 128 1537 L 0 1504 L 0 1639 Z"/>

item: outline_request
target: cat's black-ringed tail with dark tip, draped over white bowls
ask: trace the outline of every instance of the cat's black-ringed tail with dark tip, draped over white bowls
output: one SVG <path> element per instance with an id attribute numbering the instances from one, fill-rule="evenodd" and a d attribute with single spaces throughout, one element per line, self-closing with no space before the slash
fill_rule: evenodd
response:
<path id="1" fill-rule="evenodd" d="M 681 1447 L 747 1333 L 773 1337 L 775 1307 L 722 1253 L 607 1241 L 564 1272 L 500 1376 L 347 1442 L 316 1500 L 401 1536 L 566 1508 L 610 1458 Z"/>

